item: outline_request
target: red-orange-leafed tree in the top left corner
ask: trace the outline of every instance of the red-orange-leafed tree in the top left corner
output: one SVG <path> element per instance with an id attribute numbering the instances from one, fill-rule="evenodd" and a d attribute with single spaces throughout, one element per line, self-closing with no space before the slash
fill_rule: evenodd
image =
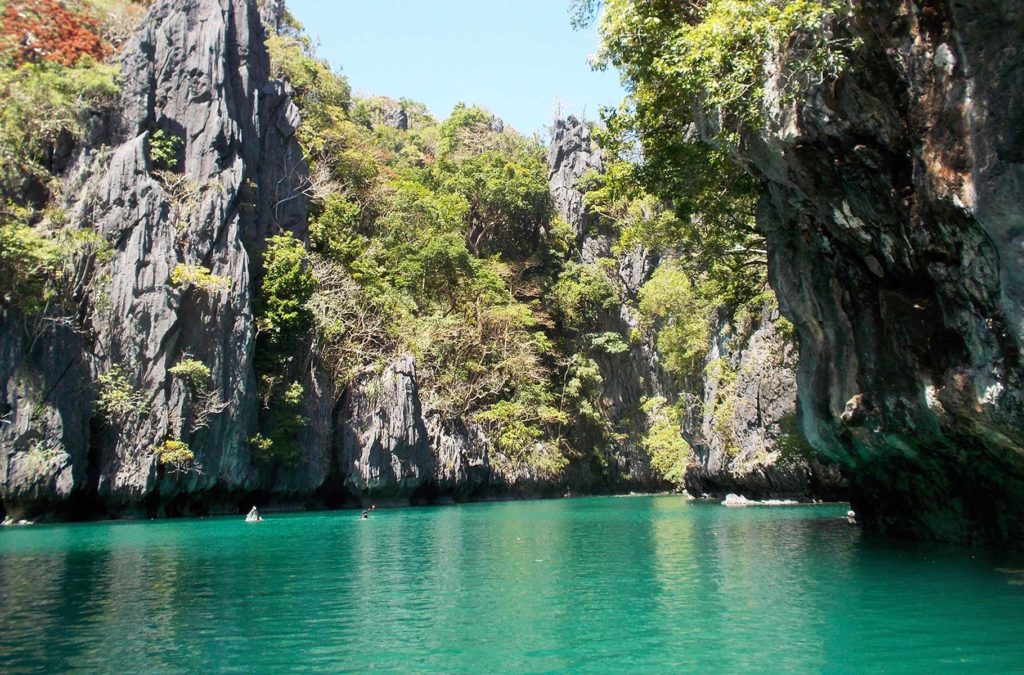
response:
<path id="1" fill-rule="evenodd" d="M 73 66 L 81 56 L 102 60 L 110 47 L 89 14 L 59 0 L 7 0 L 0 27 L 0 51 L 14 66 L 56 61 Z"/>

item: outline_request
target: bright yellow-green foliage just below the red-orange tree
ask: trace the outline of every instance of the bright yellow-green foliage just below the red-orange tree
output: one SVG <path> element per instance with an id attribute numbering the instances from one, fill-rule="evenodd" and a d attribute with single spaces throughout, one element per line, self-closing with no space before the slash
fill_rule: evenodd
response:
<path id="1" fill-rule="evenodd" d="M 0 197 L 20 201 L 26 177 L 51 180 L 49 154 L 62 134 L 80 139 L 89 111 L 113 106 L 118 69 L 82 58 L 0 68 Z"/>

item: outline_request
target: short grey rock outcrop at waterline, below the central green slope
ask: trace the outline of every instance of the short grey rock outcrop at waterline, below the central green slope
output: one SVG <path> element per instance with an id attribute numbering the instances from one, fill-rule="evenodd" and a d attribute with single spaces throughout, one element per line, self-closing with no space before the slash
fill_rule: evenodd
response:
<path id="1" fill-rule="evenodd" d="M 412 356 L 349 387 L 341 406 L 337 461 L 350 492 L 408 501 L 433 477 Z"/>

